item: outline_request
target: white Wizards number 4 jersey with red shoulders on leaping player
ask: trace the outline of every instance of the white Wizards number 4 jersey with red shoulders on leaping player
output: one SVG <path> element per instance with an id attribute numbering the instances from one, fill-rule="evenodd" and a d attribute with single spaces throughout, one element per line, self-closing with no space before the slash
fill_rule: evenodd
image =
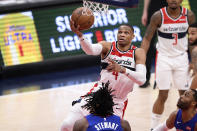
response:
<path id="1" fill-rule="evenodd" d="M 135 70 L 135 49 L 137 47 L 131 45 L 128 51 L 120 51 L 116 42 L 112 42 L 111 49 L 108 55 L 101 60 L 101 63 L 108 63 L 108 59 L 112 59 L 116 63 L 130 70 Z M 110 87 L 115 91 L 115 99 L 118 102 L 124 102 L 127 100 L 127 95 L 133 90 L 134 82 L 129 79 L 125 74 L 117 72 L 108 72 L 104 68 L 102 69 L 100 82 L 110 82 Z M 116 101 L 115 100 L 115 101 Z M 117 101 L 116 101 L 117 102 Z"/>

